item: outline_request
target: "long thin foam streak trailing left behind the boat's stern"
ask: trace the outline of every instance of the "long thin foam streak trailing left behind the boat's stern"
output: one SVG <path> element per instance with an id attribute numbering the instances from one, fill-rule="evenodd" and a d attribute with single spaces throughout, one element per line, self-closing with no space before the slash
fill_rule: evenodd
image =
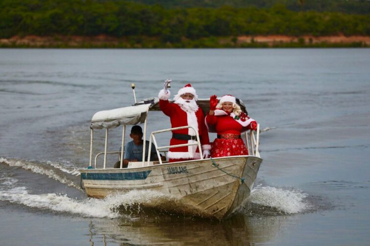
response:
<path id="1" fill-rule="evenodd" d="M 67 179 L 66 177 L 63 177 L 57 173 L 55 173 L 54 170 L 48 169 L 46 167 L 43 167 L 40 164 L 32 163 L 30 161 L 25 160 L 18 160 L 18 159 L 5 159 L 0 157 L 0 162 L 5 163 L 11 167 L 21 167 L 25 170 L 29 170 L 36 174 L 42 174 L 48 176 L 50 179 L 55 179 L 63 184 L 66 184 L 71 187 L 75 187 L 77 189 L 80 189 L 78 185 L 76 185 L 72 180 Z"/>

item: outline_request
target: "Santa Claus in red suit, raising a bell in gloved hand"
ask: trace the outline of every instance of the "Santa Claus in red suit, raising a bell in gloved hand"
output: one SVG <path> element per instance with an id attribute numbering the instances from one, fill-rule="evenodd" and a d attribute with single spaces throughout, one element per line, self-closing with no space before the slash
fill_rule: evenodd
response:
<path id="1" fill-rule="evenodd" d="M 170 91 L 168 84 L 171 80 L 166 80 L 164 89 L 159 91 L 159 107 L 162 112 L 170 117 L 171 127 L 192 126 L 198 131 L 200 143 L 202 147 L 203 157 L 208 158 L 209 137 L 207 127 L 204 123 L 204 114 L 197 105 L 197 93 L 191 84 L 178 90 L 177 95 L 174 96 L 174 101 L 168 101 L 170 98 Z M 172 138 L 170 145 L 197 143 L 196 132 L 192 128 L 185 128 L 172 131 Z M 192 159 L 200 159 L 199 149 L 197 145 L 170 148 L 167 157 L 170 162 L 184 161 Z"/>

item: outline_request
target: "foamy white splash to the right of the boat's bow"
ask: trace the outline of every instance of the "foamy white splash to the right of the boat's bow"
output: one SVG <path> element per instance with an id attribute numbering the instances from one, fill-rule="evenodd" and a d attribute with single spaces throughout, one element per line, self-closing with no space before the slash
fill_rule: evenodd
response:
<path id="1" fill-rule="evenodd" d="M 299 189 L 258 185 L 252 190 L 243 211 L 251 216 L 303 213 L 312 209 L 307 198 L 308 194 Z"/>

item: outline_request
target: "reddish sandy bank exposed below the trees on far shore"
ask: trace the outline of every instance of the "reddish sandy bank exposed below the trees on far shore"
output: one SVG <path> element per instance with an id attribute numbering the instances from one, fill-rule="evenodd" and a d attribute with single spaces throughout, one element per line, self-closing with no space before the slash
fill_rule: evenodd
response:
<path id="1" fill-rule="evenodd" d="M 317 44 L 328 44 L 333 46 L 346 46 L 359 43 L 363 46 L 370 46 L 370 36 L 239 36 L 235 38 L 215 38 L 216 42 L 207 47 L 223 47 L 228 44 L 230 47 L 243 47 L 249 44 L 263 44 L 265 46 L 279 46 L 282 44 L 298 44 L 302 46 L 315 46 Z M 183 47 L 191 47 L 184 41 Z M 94 37 L 87 36 L 14 36 L 7 39 L 0 39 L 2 47 L 172 47 L 169 43 L 161 43 L 159 38 L 116 38 L 106 35 Z M 202 47 L 198 45 L 197 47 Z"/>

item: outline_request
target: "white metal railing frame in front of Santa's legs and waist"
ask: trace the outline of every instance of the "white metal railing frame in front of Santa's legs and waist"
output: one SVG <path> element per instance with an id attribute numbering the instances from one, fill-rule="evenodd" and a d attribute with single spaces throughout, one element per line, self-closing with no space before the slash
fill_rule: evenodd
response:
<path id="1" fill-rule="evenodd" d="M 171 145 L 171 146 L 161 146 L 161 147 L 158 147 L 158 144 L 157 144 L 157 140 L 155 139 L 155 134 L 159 134 L 159 133 L 166 133 L 166 132 L 171 132 L 173 130 L 180 130 L 180 129 L 186 129 L 186 128 L 191 128 L 194 130 L 194 132 L 196 133 L 196 136 L 197 136 L 197 142 L 194 142 L 194 143 L 184 143 L 184 144 L 177 144 L 177 145 Z M 151 142 L 153 141 L 154 143 L 154 146 L 155 146 L 155 151 L 157 152 L 157 156 L 158 156 L 158 160 L 159 160 L 159 164 L 163 164 L 162 163 L 162 159 L 160 158 L 160 155 L 159 155 L 159 150 L 164 150 L 164 149 L 169 149 L 169 148 L 177 148 L 177 147 L 184 147 L 184 146 L 192 146 L 192 145 L 198 145 L 198 149 L 199 149 L 199 154 L 200 154 L 200 159 L 203 159 L 203 155 L 202 155 L 202 149 L 200 147 L 200 140 L 199 140 L 199 134 L 198 134 L 198 131 L 194 129 L 194 127 L 192 126 L 182 126 L 182 127 L 174 127 L 174 128 L 169 128 L 169 129 L 165 129 L 165 130 L 159 130 L 159 131 L 154 131 L 150 134 L 150 138 L 149 138 L 149 152 L 148 152 L 148 161 L 147 161 L 147 165 L 149 164 L 149 160 L 150 160 L 150 153 L 151 153 Z"/>

